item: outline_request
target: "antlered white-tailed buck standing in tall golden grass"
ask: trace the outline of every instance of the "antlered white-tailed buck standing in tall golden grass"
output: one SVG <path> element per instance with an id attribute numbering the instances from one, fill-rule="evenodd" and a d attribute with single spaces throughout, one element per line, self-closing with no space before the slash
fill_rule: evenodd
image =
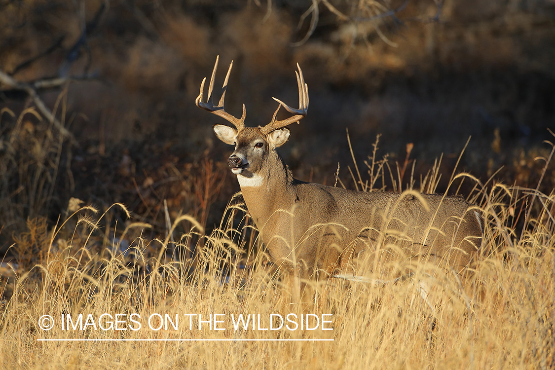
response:
<path id="1" fill-rule="evenodd" d="M 237 175 L 245 204 L 269 252 L 270 259 L 300 277 L 360 279 L 393 260 L 425 260 L 460 272 L 481 245 L 480 214 L 461 197 L 418 194 L 415 191 L 363 192 L 296 180 L 276 152 L 289 140 L 285 126 L 298 122 L 309 107 L 308 87 L 299 65 L 299 109 L 274 98 L 278 109 L 264 127 L 245 127 L 224 109 L 233 62 L 218 105 L 212 102 L 214 65 L 208 99 L 204 83 L 196 105 L 235 126 L 214 125 L 214 132 L 235 151 L 228 159 Z M 276 119 L 280 107 L 291 116 Z"/>

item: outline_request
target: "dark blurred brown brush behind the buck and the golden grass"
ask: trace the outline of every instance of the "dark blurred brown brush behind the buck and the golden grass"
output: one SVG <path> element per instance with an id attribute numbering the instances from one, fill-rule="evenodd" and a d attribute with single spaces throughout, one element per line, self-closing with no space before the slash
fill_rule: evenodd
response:
<path id="1" fill-rule="evenodd" d="M 458 170 L 535 188 L 544 163 L 534 158 L 555 140 L 555 1 L 379 3 L 0 0 L 0 71 L 26 83 L 72 77 L 38 95 L 59 103 L 75 138 L 21 116 L 32 100 L 0 85 L 0 248 L 28 219 L 63 219 L 70 197 L 123 202 L 153 236 L 164 233 L 164 200 L 172 217 L 219 222 L 239 191 L 231 148 L 211 132 L 225 122 L 194 104 L 218 54 L 217 85 L 235 61 L 226 110 L 245 103 L 247 125 L 269 122 L 271 97 L 296 104 L 301 65 L 309 113 L 280 150 L 296 178 L 332 185 L 340 163 L 354 188 L 349 129 L 363 170 L 381 134 L 378 157 L 392 165 L 413 143 L 417 179 L 443 154 L 443 191 L 472 136 Z M 552 165 L 541 190 L 554 181 Z"/>

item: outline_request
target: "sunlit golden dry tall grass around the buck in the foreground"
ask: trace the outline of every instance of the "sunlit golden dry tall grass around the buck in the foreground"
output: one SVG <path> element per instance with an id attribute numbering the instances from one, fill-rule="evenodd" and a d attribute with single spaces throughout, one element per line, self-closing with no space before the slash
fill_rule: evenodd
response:
<path id="1" fill-rule="evenodd" d="M 390 171 L 397 173 L 398 186 L 406 164 Z M 388 165 L 374 154 L 368 166 L 369 183 L 363 183 L 359 169 L 351 173 L 371 189 Z M 145 239 L 149 225 L 143 223 L 110 227 L 110 212 L 127 212 L 122 204 L 99 214 L 72 200 L 65 220 L 52 230 L 37 217 L 14 237 L 18 259 L 3 263 L 0 276 L 0 290 L 9 298 L 2 302 L 0 363 L 4 368 L 553 368 L 555 191 L 482 185 L 468 174 L 453 175 L 452 187 L 463 178 L 477 184 L 469 199 L 481 206 L 486 223 L 480 258 L 462 280 L 419 266 L 412 278 L 384 287 L 312 282 L 315 295 L 301 302 L 279 270 L 266 265 L 244 205 L 236 200 L 211 234 L 183 215 L 164 240 Z M 411 176 L 409 187 L 433 191 L 437 179 L 436 167 L 420 187 Z M 178 225 L 189 231 L 171 242 Z M 433 308 L 420 299 L 420 281 L 430 287 Z M 255 314 L 256 329 L 251 322 L 246 330 L 235 330 L 233 320 L 241 313 Z M 331 322 L 317 330 L 263 330 L 271 314 L 289 313 L 299 325 L 306 314 Z M 171 322 L 149 328 L 153 314 L 167 314 L 176 328 Z M 199 329 L 199 317 L 185 314 L 200 314 L 204 321 L 210 314 L 221 316 L 200 322 Z M 51 330 L 39 327 L 47 323 L 43 315 L 53 317 Z M 68 329 L 68 315 L 76 329 Z M 152 326 L 158 327 L 159 318 L 153 316 Z M 314 326 L 314 316 L 309 319 Z"/>

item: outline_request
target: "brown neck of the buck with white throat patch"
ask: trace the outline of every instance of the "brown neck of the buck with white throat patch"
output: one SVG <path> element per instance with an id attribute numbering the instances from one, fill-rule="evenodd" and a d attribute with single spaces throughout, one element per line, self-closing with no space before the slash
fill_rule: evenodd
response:
<path id="1" fill-rule="evenodd" d="M 260 231 L 273 224 L 269 221 L 278 216 L 277 210 L 290 211 L 295 199 L 293 176 L 279 154 L 270 151 L 264 161 L 257 173 L 237 175 L 245 204 Z"/>

